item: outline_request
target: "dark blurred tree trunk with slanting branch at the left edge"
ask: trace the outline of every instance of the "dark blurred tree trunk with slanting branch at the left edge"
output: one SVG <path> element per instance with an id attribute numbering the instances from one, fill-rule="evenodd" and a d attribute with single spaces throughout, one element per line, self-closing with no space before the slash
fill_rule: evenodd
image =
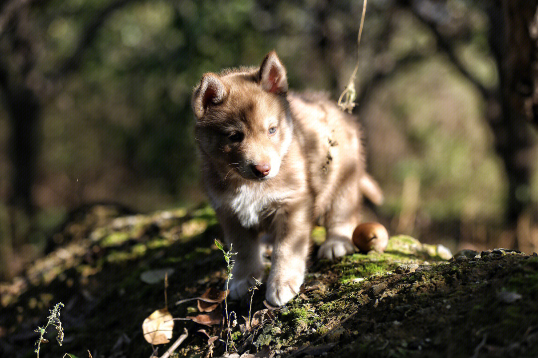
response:
<path id="1" fill-rule="evenodd" d="M 0 39 L 4 38 L 0 44 L 0 91 L 9 115 L 8 156 L 13 173 L 8 197 L 10 228 L 6 237 L 0 237 L 0 261 L 3 263 L 0 264 L 0 277 L 8 269 L 5 262 L 9 261 L 12 246 L 25 240 L 33 228 L 32 187 L 41 142 L 41 106 L 58 92 L 62 78 L 79 68 L 83 54 L 93 44 L 105 20 L 134 1 L 116 0 L 97 10 L 83 27 L 73 53 L 58 64 L 52 74 L 40 73 L 37 69 L 42 55 L 40 42 L 45 41 L 43 34 L 46 31 L 38 28 L 39 24 L 30 16 L 32 10 L 40 11 L 39 6 L 46 2 L 0 2 Z M 20 223 L 26 227 L 20 228 Z"/>

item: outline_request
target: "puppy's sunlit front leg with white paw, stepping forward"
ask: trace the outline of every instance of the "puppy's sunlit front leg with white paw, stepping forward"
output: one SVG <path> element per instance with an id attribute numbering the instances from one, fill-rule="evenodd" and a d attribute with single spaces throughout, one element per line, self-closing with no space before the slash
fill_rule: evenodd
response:
<path id="1" fill-rule="evenodd" d="M 274 306 L 284 305 L 295 297 L 305 279 L 312 231 L 308 207 L 312 206 L 298 203 L 275 216 L 271 273 L 265 293 L 267 301 Z"/>

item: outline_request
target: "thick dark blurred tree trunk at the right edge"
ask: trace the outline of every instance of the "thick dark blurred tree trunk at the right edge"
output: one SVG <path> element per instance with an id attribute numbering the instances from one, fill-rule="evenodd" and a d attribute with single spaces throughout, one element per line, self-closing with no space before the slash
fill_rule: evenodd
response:
<path id="1" fill-rule="evenodd" d="M 505 164 L 507 219 L 514 226 L 531 204 L 530 180 L 536 164 L 532 124 L 538 125 L 537 6 L 536 0 L 497 0 L 487 6 L 489 41 L 499 70 L 499 89 L 486 98 L 487 119 Z"/>

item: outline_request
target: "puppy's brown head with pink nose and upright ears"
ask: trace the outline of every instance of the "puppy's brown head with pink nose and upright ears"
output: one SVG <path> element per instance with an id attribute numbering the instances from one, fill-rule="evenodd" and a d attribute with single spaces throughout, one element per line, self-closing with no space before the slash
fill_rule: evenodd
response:
<path id="1" fill-rule="evenodd" d="M 286 69 L 273 51 L 259 68 L 206 73 L 193 94 L 196 140 L 226 177 L 278 175 L 292 140 Z"/>

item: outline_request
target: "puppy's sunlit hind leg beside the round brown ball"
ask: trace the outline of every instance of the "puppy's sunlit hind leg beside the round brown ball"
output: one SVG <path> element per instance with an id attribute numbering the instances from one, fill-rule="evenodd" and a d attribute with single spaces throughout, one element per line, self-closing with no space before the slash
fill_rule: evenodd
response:
<path id="1" fill-rule="evenodd" d="M 317 256 L 329 260 L 355 251 L 351 235 L 359 223 L 360 201 L 358 181 L 351 176 L 339 190 L 331 209 L 325 214 L 327 239 L 321 245 Z"/>

